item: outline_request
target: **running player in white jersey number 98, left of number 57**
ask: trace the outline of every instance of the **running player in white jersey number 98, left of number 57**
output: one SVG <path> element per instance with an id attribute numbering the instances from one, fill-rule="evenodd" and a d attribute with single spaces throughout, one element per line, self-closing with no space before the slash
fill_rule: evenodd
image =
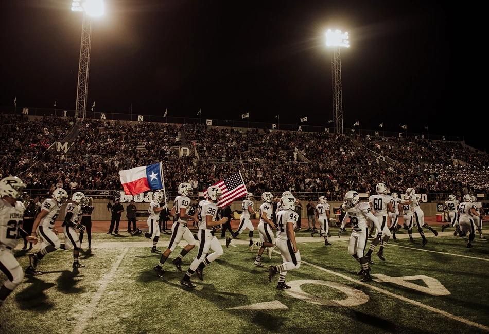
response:
<path id="1" fill-rule="evenodd" d="M 56 189 L 51 195 L 51 198 L 47 198 L 41 206 L 41 212 L 34 220 L 34 226 L 32 228 L 32 234 L 39 236 L 41 239 L 41 250 L 36 254 L 29 256 L 30 266 L 27 267 L 25 273 L 28 275 L 40 275 L 41 272 L 37 271 L 39 261 L 47 253 L 54 252 L 61 248 L 65 249 L 64 244 L 61 244 L 58 239 L 58 231 L 55 229 L 55 221 L 58 218 L 59 210 L 64 202 L 68 199 L 68 193 L 64 189 Z"/>

